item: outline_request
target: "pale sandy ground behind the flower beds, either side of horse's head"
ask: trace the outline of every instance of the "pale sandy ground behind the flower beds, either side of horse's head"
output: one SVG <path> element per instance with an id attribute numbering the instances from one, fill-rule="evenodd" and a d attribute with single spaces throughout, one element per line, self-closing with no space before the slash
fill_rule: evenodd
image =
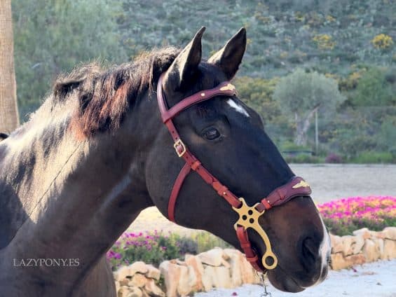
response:
<path id="1" fill-rule="evenodd" d="M 396 196 L 396 165 L 291 165 L 310 184 L 318 203 L 337 198 L 368 195 Z M 168 230 L 191 233 L 165 219 L 156 207 L 145 209 L 129 230 Z M 374 295 L 375 296 L 375 295 Z"/>

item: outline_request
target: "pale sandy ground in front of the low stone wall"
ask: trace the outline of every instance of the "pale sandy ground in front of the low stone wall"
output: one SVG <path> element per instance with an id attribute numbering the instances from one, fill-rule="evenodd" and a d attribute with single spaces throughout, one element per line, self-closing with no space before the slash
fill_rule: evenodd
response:
<path id="1" fill-rule="evenodd" d="M 271 285 L 267 286 L 267 291 L 271 292 L 271 297 L 395 297 L 395 280 L 396 260 L 392 260 L 364 264 L 355 267 L 355 270 L 330 271 L 325 282 L 297 294 L 277 291 Z M 196 293 L 194 297 L 259 297 L 262 293 L 264 293 L 262 286 L 250 284 L 237 289 Z"/>

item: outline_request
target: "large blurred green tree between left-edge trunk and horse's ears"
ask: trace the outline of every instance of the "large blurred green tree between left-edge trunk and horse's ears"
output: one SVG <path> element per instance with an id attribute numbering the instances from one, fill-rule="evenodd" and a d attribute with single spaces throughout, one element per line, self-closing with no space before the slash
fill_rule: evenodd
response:
<path id="1" fill-rule="evenodd" d="M 40 106 L 58 74 L 81 62 L 128 60 L 116 23 L 120 10 L 115 0 L 13 0 L 22 120 Z"/>

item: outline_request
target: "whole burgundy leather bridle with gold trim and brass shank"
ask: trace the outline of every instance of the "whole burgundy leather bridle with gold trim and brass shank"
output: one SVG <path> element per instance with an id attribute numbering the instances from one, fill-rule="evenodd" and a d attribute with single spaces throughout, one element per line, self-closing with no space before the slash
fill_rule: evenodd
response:
<path id="1" fill-rule="evenodd" d="M 198 104 L 200 102 L 211 99 L 215 96 L 234 96 L 237 95 L 235 87 L 229 82 L 225 81 L 220 83 L 216 88 L 210 90 L 202 90 L 196 92 L 195 94 L 182 99 L 180 102 L 168 109 L 165 98 L 163 97 L 163 76 L 162 74 L 158 80 L 157 85 L 157 100 L 158 107 L 161 112 L 161 118 L 163 123 L 168 127 L 170 135 L 174 141 L 173 147 L 179 158 L 183 158 L 186 164 L 180 170 L 179 175 L 173 185 L 172 192 L 170 193 L 170 199 L 168 204 L 168 218 L 170 221 L 175 222 L 175 205 L 177 200 L 177 195 L 179 194 L 180 188 L 187 175 L 191 170 L 195 171 L 202 179 L 214 188 L 219 196 L 224 198 L 228 204 L 231 205 L 233 210 L 238 213 L 239 219 L 234 224 L 236 235 L 240 242 L 240 246 L 245 252 L 247 261 L 252 264 L 254 269 L 264 272 L 265 270 L 270 270 L 276 267 L 278 264 L 278 258 L 273 254 L 271 249 L 271 242 L 263 228 L 259 225 L 259 216 L 263 215 L 266 210 L 271 207 L 282 205 L 283 203 L 291 200 L 292 198 L 300 195 L 310 195 L 310 186 L 301 177 L 293 177 L 287 184 L 275 188 L 266 198 L 262 199 L 260 202 L 256 203 L 252 207 L 248 206 L 244 198 L 238 198 L 231 191 L 226 188 L 221 182 L 216 179 L 210 172 L 208 172 L 205 167 L 200 163 L 198 158 L 194 156 L 189 149 L 186 147 L 175 125 L 172 122 L 172 118 L 177 116 L 180 112 L 185 109 Z M 266 252 L 259 261 L 256 251 L 252 248 L 249 237 L 247 236 L 247 229 L 254 229 L 264 241 L 266 245 Z M 260 262 L 262 264 L 260 265 Z M 269 262 L 269 263 L 268 263 Z"/>

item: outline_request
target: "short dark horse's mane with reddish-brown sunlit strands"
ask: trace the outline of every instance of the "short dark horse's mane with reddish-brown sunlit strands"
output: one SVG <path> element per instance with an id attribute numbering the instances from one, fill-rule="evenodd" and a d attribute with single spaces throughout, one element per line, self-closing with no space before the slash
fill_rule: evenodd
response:
<path id="1" fill-rule="evenodd" d="M 179 54 L 177 48 L 161 48 L 139 55 L 133 62 L 102 69 L 87 64 L 57 78 L 53 104 L 71 97 L 78 99 L 78 110 L 71 117 L 71 128 L 85 137 L 116 129 L 130 103 L 146 90 L 152 92 L 160 74 Z"/>

